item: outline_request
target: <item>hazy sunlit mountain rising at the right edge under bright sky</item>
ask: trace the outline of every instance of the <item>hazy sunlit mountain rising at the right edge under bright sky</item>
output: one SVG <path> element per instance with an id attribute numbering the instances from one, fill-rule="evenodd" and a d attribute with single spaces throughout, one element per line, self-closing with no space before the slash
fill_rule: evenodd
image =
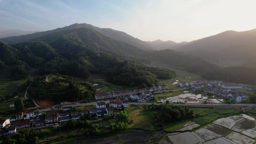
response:
<path id="1" fill-rule="evenodd" d="M 225 31 L 176 50 L 220 66 L 256 67 L 256 29 Z"/>

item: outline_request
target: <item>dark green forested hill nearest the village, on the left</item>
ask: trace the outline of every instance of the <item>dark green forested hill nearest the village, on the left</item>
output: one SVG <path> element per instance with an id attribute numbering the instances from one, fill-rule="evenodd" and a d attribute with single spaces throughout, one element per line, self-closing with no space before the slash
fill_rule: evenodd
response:
<path id="1" fill-rule="evenodd" d="M 172 79 L 174 71 L 146 67 L 118 56 L 100 52 L 92 46 L 85 45 L 79 37 L 74 35 L 56 36 L 50 43 L 42 41 L 28 41 L 9 46 L 1 43 L 1 65 L 15 65 L 13 76 L 24 77 L 28 68 L 39 67 L 39 74 L 65 74 L 76 77 L 89 77 L 91 73 L 106 76 L 110 82 L 127 85 L 152 86 L 158 79 Z M 111 48 L 111 47 L 110 47 Z M 3 59 L 2 59 L 3 58 Z"/>

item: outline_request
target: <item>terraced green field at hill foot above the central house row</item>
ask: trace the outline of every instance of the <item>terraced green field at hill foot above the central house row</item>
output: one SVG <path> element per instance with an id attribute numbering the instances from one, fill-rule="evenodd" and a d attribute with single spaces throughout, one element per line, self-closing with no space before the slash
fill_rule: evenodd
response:
<path id="1" fill-rule="evenodd" d="M 97 93 L 101 93 L 101 92 L 108 92 L 108 91 L 127 91 L 127 90 L 131 90 L 131 88 L 128 88 L 126 86 L 118 86 L 118 85 L 114 85 L 113 83 L 107 82 L 106 78 L 99 75 L 99 74 L 92 74 L 88 81 L 90 81 L 93 84 L 98 84 L 97 86 L 95 86 L 95 89 L 97 89 Z"/>

